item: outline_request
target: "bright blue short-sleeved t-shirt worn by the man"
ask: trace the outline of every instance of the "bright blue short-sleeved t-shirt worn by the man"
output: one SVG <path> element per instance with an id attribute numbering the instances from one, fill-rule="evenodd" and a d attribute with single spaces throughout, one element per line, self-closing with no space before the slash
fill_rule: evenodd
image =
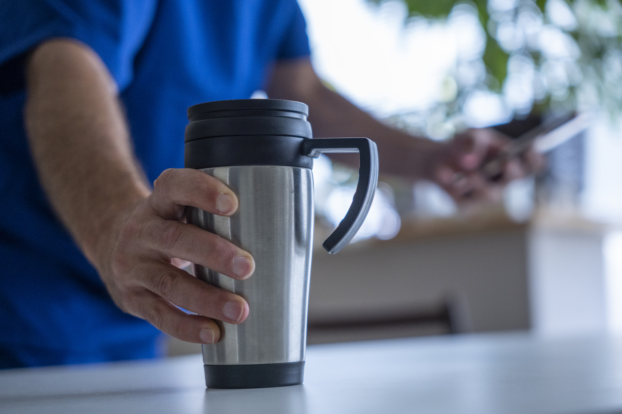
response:
<path id="1" fill-rule="evenodd" d="M 55 217 L 24 132 L 24 61 L 52 37 L 95 50 L 118 84 L 149 181 L 183 167 L 186 109 L 261 89 L 309 55 L 295 0 L 0 0 L 0 367 L 151 358 L 159 331 L 121 312 Z"/>

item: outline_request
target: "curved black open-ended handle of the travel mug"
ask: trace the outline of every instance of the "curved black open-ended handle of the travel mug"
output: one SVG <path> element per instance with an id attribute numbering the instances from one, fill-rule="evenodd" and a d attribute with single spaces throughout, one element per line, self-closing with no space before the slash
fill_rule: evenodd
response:
<path id="1" fill-rule="evenodd" d="M 346 217 L 322 243 L 328 253 L 340 251 L 356 235 L 363 224 L 378 185 L 378 147 L 368 138 L 313 138 L 302 143 L 304 155 L 317 158 L 321 153 L 358 152 L 358 184 Z"/>

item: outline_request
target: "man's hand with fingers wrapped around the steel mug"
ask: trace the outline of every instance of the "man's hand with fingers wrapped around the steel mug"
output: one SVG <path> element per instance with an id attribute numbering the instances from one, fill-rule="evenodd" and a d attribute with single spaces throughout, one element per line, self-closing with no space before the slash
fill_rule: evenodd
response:
<path id="1" fill-rule="evenodd" d="M 242 297 L 218 289 L 172 264 L 179 258 L 233 279 L 253 274 L 253 257 L 229 241 L 183 223 L 184 206 L 229 216 L 238 199 L 222 182 L 194 169 L 167 169 L 154 192 L 123 220 L 111 258 L 100 276 L 119 308 L 183 341 L 215 343 L 220 331 L 210 318 L 242 322 Z M 179 307 L 198 315 L 188 315 Z"/>

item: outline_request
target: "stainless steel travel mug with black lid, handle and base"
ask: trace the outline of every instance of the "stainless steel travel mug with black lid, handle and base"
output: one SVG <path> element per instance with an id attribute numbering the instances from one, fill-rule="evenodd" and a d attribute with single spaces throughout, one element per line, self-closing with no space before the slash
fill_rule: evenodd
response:
<path id="1" fill-rule="evenodd" d="M 356 193 L 345 218 L 323 243 L 348 244 L 366 217 L 378 183 L 378 151 L 368 138 L 312 139 L 301 102 L 238 99 L 188 108 L 185 166 L 220 179 L 238 196 L 230 217 L 187 207 L 188 223 L 253 255 L 244 281 L 193 264 L 202 281 L 244 297 L 250 313 L 232 325 L 217 321 L 220 341 L 203 345 L 209 388 L 301 384 L 313 239 L 313 158 L 358 152 Z"/>

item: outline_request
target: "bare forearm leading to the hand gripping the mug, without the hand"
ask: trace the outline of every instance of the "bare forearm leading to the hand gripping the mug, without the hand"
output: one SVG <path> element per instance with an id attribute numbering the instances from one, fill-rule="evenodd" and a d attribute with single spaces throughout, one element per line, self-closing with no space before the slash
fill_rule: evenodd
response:
<path id="1" fill-rule="evenodd" d="M 91 263 L 113 218 L 149 195 L 116 85 L 90 48 L 40 45 L 27 65 L 26 129 L 50 202 Z"/>

